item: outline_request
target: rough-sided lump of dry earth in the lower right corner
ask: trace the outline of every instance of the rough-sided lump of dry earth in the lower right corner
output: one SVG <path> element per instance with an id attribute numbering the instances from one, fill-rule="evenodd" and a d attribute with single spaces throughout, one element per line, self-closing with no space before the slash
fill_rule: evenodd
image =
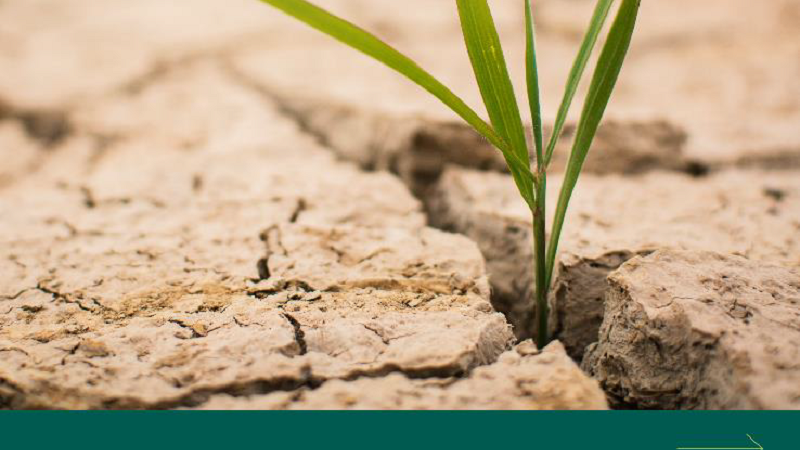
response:
<path id="1" fill-rule="evenodd" d="M 584 367 L 638 408 L 800 407 L 800 272 L 659 251 L 609 277 Z"/>

